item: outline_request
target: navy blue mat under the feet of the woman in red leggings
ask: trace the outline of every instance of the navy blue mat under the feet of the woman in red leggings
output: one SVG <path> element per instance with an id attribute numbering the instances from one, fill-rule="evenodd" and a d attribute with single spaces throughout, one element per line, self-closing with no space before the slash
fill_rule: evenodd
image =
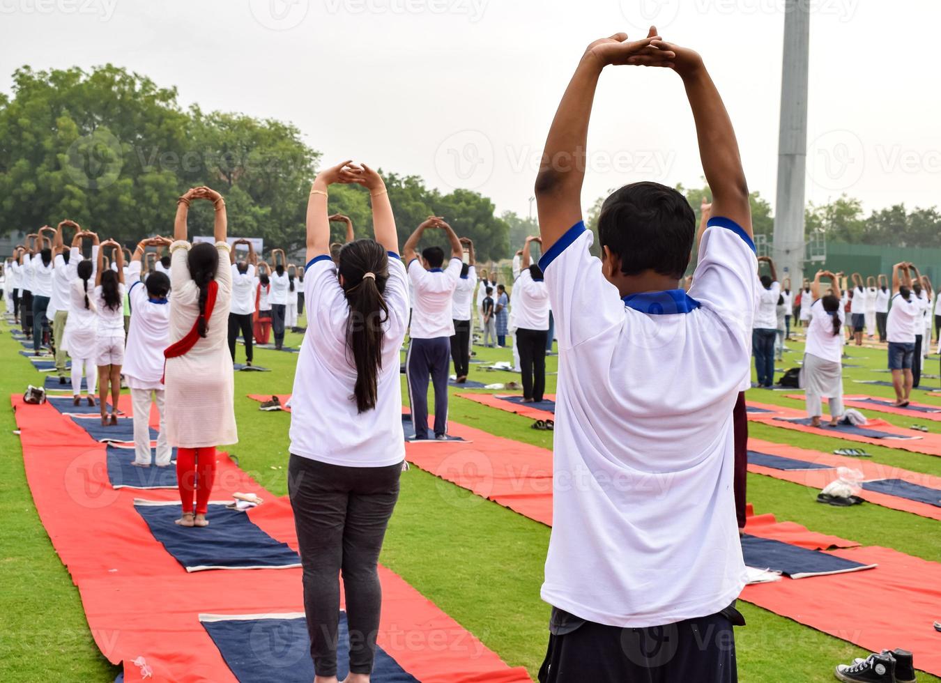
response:
<path id="1" fill-rule="evenodd" d="M 286 543 L 263 532 L 245 513 L 228 509 L 226 502 L 209 504 L 209 526 L 203 528 L 175 523 L 181 515 L 178 502 L 136 499 L 134 509 L 188 572 L 300 566 L 300 556 Z"/>

